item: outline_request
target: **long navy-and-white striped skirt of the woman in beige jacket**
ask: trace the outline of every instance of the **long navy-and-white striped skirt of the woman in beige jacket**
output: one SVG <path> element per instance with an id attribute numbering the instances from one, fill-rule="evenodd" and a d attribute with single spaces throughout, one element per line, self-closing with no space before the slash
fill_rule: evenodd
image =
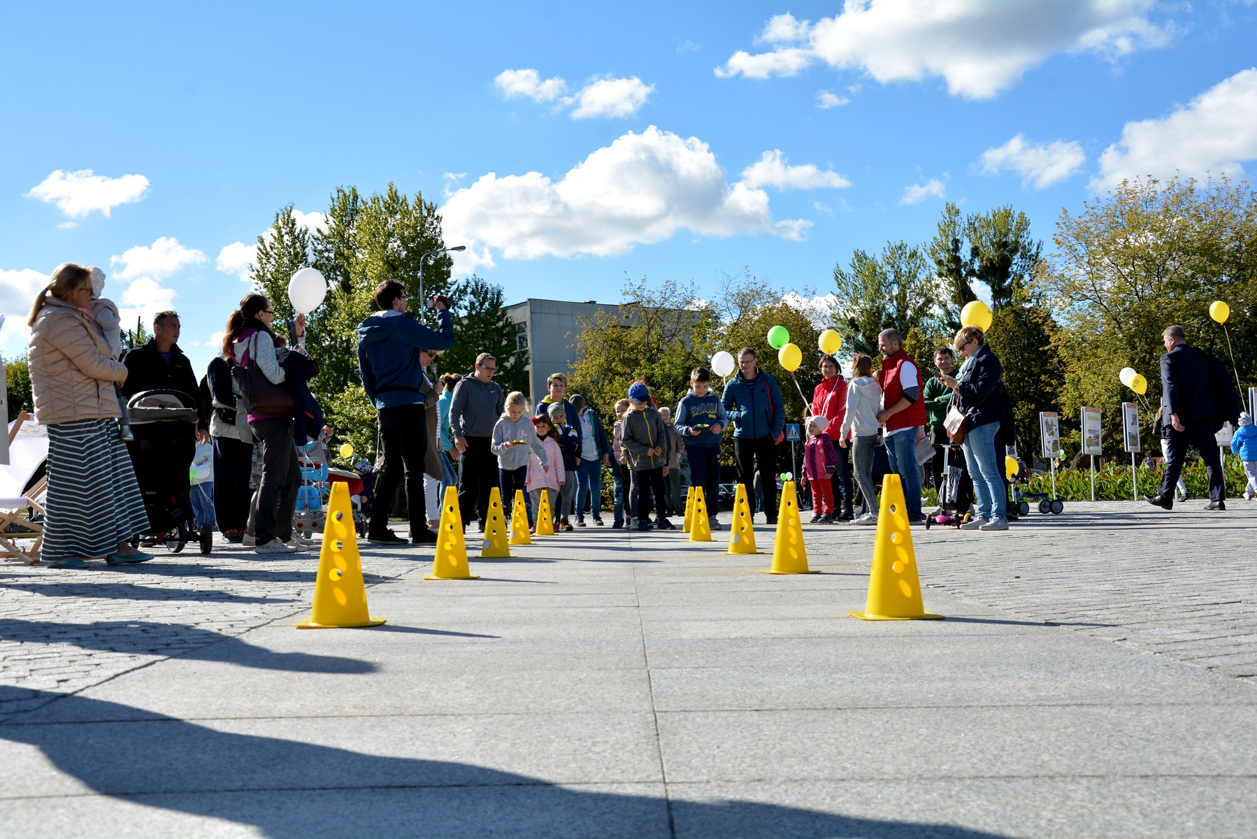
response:
<path id="1" fill-rule="evenodd" d="M 45 560 L 106 556 L 148 527 L 117 420 L 48 426 L 47 509 Z"/>

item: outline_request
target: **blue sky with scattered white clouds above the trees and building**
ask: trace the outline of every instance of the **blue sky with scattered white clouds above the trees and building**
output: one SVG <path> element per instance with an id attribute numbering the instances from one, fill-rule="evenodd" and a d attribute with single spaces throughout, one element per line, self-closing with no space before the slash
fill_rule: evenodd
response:
<path id="1" fill-rule="evenodd" d="M 1252 166 L 1254 21 L 1243 1 L 9 3 L 0 351 L 73 260 L 127 312 L 178 309 L 204 366 L 275 210 L 338 185 L 441 203 L 460 269 L 512 302 L 612 302 L 626 273 L 714 294 L 743 265 L 827 293 L 854 248 L 931 235 L 945 199 L 1013 204 L 1050 244 L 1121 176 Z"/>

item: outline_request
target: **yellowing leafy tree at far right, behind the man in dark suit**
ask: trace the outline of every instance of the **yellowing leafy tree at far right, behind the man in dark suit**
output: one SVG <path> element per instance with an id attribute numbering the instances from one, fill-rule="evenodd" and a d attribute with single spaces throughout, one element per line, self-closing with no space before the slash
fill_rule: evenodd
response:
<path id="1" fill-rule="evenodd" d="M 1257 377 L 1257 197 L 1246 181 L 1123 181 L 1081 213 L 1063 211 L 1053 242 L 1036 288 L 1061 325 L 1061 409 L 1077 421 L 1081 406 L 1099 408 L 1106 453 L 1121 452 L 1120 403 L 1138 401 L 1117 380 L 1123 367 L 1141 372 L 1149 403 L 1159 401 L 1161 330 L 1178 323 L 1192 345 L 1227 357 L 1213 301 L 1231 306 L 1241 380 Z M 1146 410 L 1143 419 L 1146 430 Z"/>

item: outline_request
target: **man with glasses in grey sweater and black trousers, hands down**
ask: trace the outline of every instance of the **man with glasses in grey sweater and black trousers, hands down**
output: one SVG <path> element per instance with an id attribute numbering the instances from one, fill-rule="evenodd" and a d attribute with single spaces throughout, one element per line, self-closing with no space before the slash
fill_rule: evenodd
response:
<path id="1" fill-rule="evenodd" d="M 450 435 L 459 450 L 459 511 L 463 526 L 474 516 L 481 533 L 489 492 L 498 486 L 498 458 L 490 448 L 493 426 L 507 408 L 507 397 L 493 380 L 497 370 L 498 360 L 481 352 L 475 370 L 454 386 L 450 401 Z M 503 503 L 508 503 L 505 498 Z"/>

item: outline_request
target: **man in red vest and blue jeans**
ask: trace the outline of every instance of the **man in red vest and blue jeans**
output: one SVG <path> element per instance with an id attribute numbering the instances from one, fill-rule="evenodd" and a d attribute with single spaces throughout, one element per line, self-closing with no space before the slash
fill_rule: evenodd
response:
<path id="1" fill-rule="evenodd" d="M 877 384 L 881 385 L 881 411 L 877 421 L 886 429 L 886 455 L 891 470 L 904 484 L 908 521 L 924 522 L 921 516 L 921 472 L 916 464 L 916 436 L 925 425 L 925 400 L 921 399 L 921 375 L 916 362 L 904 352 L 904 338 L 897 330 L 877 335 L 877 351 L 882 355 Z"/>

